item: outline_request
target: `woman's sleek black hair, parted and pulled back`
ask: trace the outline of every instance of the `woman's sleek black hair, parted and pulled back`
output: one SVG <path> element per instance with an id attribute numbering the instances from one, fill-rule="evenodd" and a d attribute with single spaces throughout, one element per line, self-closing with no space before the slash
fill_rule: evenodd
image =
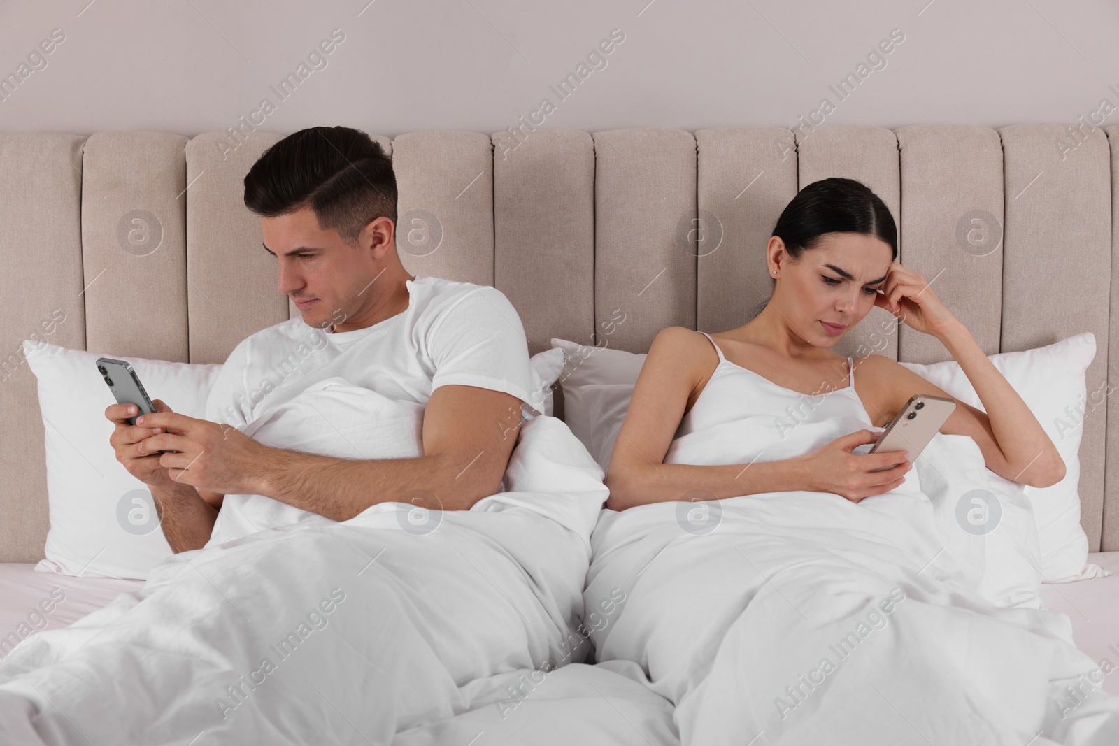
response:
<path id="1" fill-rule="evenodd" d="M 784 206 L 773 226 L 773 234 L 784 242 L 793 261 L 815 248 L 826 234 L 858 233 L 890 244 L 897 258 L 897 226 L 886 204 L 869 187 L 854 179 L 833 177 L 814 181 L 797 192 Z M 770 277 L 772 282 L 775 278 Z M 761 313 L 769 299 L 755 308 L 751 319 Z"/>

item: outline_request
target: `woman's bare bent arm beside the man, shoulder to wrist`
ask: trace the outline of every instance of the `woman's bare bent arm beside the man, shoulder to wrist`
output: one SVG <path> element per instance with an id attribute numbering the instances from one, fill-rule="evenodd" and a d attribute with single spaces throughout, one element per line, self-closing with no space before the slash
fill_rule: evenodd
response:
<path id="1" fill-rule="evenodd" d="M 664 463 L 688 400 L 717 363 L 711 343 L 689 329 L 669 327 L 657 334 L 610 457 L 608 508 L 683 500 L 695 490 L 722 499 L 802 489 L 799 470 L 788 460 L 703 466 Z"/>

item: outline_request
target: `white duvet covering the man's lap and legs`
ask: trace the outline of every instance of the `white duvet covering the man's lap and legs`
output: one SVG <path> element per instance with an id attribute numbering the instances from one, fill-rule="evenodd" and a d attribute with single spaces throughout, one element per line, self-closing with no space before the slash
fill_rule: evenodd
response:
<path id="1" fill-rule="evenodd" d="M 419 433 L 414 408 L 393 417 L 384 397 L 336 384 L 289 406 L 272 442 L 314 433 L 319 452 L 352 457 Z M 341 400 L 392 432 L 326 426 Z M 297 516 L 176 555 L 139 591 L 0 662 L 0 743 L 379 745 L 453 720 L 480 679 L 584 659 L 601 478 L 567 427 L 540 416 L 521 428 L 506 491 L 470 511 Z"/>

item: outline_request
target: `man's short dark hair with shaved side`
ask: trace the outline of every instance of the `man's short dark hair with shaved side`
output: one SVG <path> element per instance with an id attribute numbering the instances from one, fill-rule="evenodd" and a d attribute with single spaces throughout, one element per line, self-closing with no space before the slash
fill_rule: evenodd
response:
<path id="1" fill-rule="evenodd" d="M 275 143 L 245 176 L 245 207 L 264 217 L 310 207 L 347 244 L 372 220 L 396 224 L 393 161 L 360 130 L 313 126 Z"/>

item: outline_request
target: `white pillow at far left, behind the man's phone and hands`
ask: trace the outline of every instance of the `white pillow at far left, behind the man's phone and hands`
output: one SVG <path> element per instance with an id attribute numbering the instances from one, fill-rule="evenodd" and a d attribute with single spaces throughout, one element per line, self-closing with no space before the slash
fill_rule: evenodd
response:
<path id="1" fill-rule="evenodd" d="M 46 431 L 50 529 L 35 569 L 147 579 L 171 556 L 148 487 L 116 461 L 105 407 L 115 403 L 96 359 L 125 359 L 148 395 L 175 412 L 201 417 L 220 365 L 190 365 L 69 350 L 31 340 L 23 355 L 38 379 Z"/>

